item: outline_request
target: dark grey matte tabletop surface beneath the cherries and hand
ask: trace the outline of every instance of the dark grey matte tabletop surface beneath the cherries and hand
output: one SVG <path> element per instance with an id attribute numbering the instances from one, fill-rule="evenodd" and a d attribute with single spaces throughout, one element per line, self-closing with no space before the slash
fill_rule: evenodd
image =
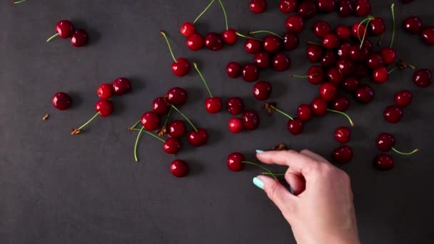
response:
<path id="1" fill-rule="evenodd" d="M 284 142 L 291 148 L 329 156 L 333 131 L 346 126 L 345 118 L 329 114 L 308 123 L 305 133 L 292 136 L 286 119 L 269 117 L 251 96 L 253 84 L 233 80 L 224 71 L 228 61 L 251 61 L 243 41 L 222 51 L 189 51 L 178 27 L 193 21 L 207 1 L 34 1 L 21 5 L 0 3 L 0 240 L 1 243 L 295 243 L 290 226 L 252 178 L 261 172 L 247 167 L 241 173 L 226 168 L 228 153 L 240 151 L 251 161 L 256 148 L 268 149 Z M 373 15 L 388 24 L 391 34 L 391 1 L 372 1 Z M 268 1 L 268 11 L 254 15 L 248 1 L 225 1 L 230 26 L 243 33 L 268 29 L 283 33 L 286 15 L 278 1 Z M 434 24 L 433 1 L 416 0 L 396 6 L 398 33 L 395 49 L 401 59 L 421 68 L 433 68 L 433 47 L 418 36 L 404 34 L 400 23 L 417 14 Z M 54 34 L 60 19 L 89 31 L 89 46 L 77 49 L 69 40 L 45 40 Z M 307 22 L 301 42 L 316 40 L 310 31 L 316 20 L 353 24 L 360 18 L 316 16 Z M 199 21 L 202 34 L 223 31 L 218 4 Z M 245 98 L 248 108 L 260 110 L 257 131 L 228 132 L 226 112 L 206 113 L 206 90 L 194 71 L 184 78 L 171 73 L 171 56 L 159 30 L 166 30 L 177 56 L 200 63 L 213 93 L 223 99 Z M 376 39 L 373 39 L 375 41 Z M 289 53 L 291 71 L 261 73 L 273 84 L 271 100 L 295 112 L 309 103 L 318 88 L 290 73 L 304 74 L 310 63 L 305 49 Z M 352 103 L 355 151 L 342 166 L 353 181 L 360 238 L 363 243 L 433 243 L 434 183 L 432 109 L 433 89 L 417 88 L 411 71 L 396 71 L 383 85 L 373 84 L 375 101 L 367 106 Z M 115 112 L 98 118 L 79 136 L 71 128 L 94 114 L 96 88 L 120 76 L 131 78 L 133 92 L 113 99 Z M 370 83 L 370 81 L 365 81 Z M 126 128 L 150 109 L 153 98 L 172 86 L 185 87 L 190 95 L 182 111 L 210 133 L 208 145 L 184 150 L 177 158 L 187 161 L 191 173 L 175 178 L 168 170 L 174 159 L 163 153 L 161 143 L 144 136 L 140 162 L 133 162 L 136 133 Z M 400 89 L 413 92 L 403 121 L 385 123 L 383 108 L 393 103 Z M 74 106 L 57 111 L 51 96 L 70 93 Z M 353 101 L 353 100 L 352 100 Z M 48 121 L 42 121 L 50 113 Z M 395 155 L 393 171 L 378 172 L 372 159 L 378 150 L 378 133 L 395 134 L 398 148 L 420 148 L 411 157 Z M 330 158 L 330 157 L 328 157 Z"/>

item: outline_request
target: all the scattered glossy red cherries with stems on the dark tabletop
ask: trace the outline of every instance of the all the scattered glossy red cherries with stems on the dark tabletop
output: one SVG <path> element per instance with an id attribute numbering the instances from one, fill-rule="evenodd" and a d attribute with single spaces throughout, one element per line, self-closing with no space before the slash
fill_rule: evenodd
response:
<path id="1" fill-rule="evenodd" d="M 402 0 L 405 3 L 410 1 Z M 238 38 L 245 39 L 244 49 L 248 54 L 252 54 L 251 63 L 241 65 L 236 61 L 231 61 L 226 66 L 226 73 L 230 78 L 242 77 L 244 81 L 252 83 L 253 96 L 263 102 L 263 108 L 269 114 L 279 113 L 288 118 L 288 131 L 294 136 L 303 133 L 308 121 L 315 116 L 324 116 L 327 113 L 338 113 L 348 119 L 350 126 L 354 126 L 350 116 L 345 111 L 350 108 L 350 100 L 344 94 L 354 96 L 360 103 L 370 103 L 373 101 L 375 92 L 368 83 L 363 83 L 363 78 L 372 79 L 373 83 L 385 83 L 389 76 L 398 69 L 411 68 L 413 73 L 413 83 L 420 88 L 431 85 L 432 73 L 426 68 L 417 69 L 410 63 L 405 63 L 398 59 L 398 54 L 393 49 L 395 37 L 395 13 L 394 4 L 391 6 L 393 16 L 393 28 L 391 29 L 391 39 L 388 46 L 383 46 L 375 50 L 371 37 L 378 36 L 378 46 L 382 46 L 381 40 L 386 33 L 386 24 L 383 18 L 378 16 L 368 16 L 371 11 L 369 0 L 281 0 L 279 9 L 284 13 L 296 13 L 286 19 L 286 33 L 276 34 L 271 31 L 251 31 L 248 34 L 241 34 L 234 29 L 228 28 L 228 19 L 223 2 L 218 0 L 226 21 L 226 29 L 222 34 L 210 32 L 205 38 L 196 31 L 195 24 L 198 19 L 215 3 L 212 0 L 208 6 L 198 15 L 193 22 L 186 22 L 181 25 L 181 34 L 186 36 L 186 45 L 192 51 L 198 51 L 205 47 L 212 51 L 223 49 L 226 45 L 236 44 Z M 252 0 L 250 9 L 255 14 L 266 11 L 267 3 L 265 0 Z M 319 21 L 313 25 L 313 33 L 318 37 L 318 41 L 309 41 L 306 46 L 306 56 L 313 65 L 308 68 L 306 76 L 292 75 L 294 78 L 306 78 L 314 86 L 319 86 L 318 96 L 307 103 L 300 104 L 295 111 L 295 116 L 283 111 L 277 103 L 267 101 L 271 96 L 272 85 L 268 81 L 258 81 L 259 72 L 266 68 L 273 68 L 275 71 L 287 71 L 291 68 L 291 59 L 285 51 L 291 51 L 299 46 L 298 34 L 306 29 L 306 20 L 319 13 L 337 11 L 341 17 L 362 16 L 365 17 L 352 26 L 339 25 L 334 29 L 325 21 Z M 65 24 L 66 23 L 66 24 Z M 56 31 L 62 38 L 69 37 L 74 29 L 69 21 L 60 21 L 56 26 Z M 434 27 L 427 26 L 422 28 L 418 17 L 410 16 L 403 22 L 403 29 L 412 34 L 420 34 L 425 44 L 434 45 Z M 258 36 L 266 34 L 263 39 Z M 173 54 L 168 36 L 164 31 L 161 35 L 168 45 L 168 49 L 173 59 L 171 70 L 176 76 L 186 76 L 191 71 L 191 63 L 187 59 L 178 58 Z M 74 38 L 74 36 L 73 36 Z M 209 97 L 205 100 L 205 108 L 208 113 L 218 113 L 222 110 L 223 102 L 218 96 L 213 96 L 206 79 L 203 77 L 198 63 L 193 63 L 193 68 L 201 78 Z M 96 103 L 96 116 L 108 116 L 113 106 L 108 98 L 112 93 L 118 95 L 125 93 L 131 88 L 131 84 L 124 78 L 117 79 L 111 84 L 103 84 L 98 89 L 98 95 L 102 98 Z M 118 93 L 118 83 L 123 83 L 123 91 Z M 126 88 L 128 83 L 128 88 Z M 118 89 L 116 91 L 116 89 Z M 137 148 L 141 134 L 156 138 L 163 143 L 163 151 L 169 154 L 177 154 L 181 151 L 181 138 L 187 136 L 191 146 L 203 146 L 208 142 L 208 133 L 203 128 L 197 128 L 188 117 L 180 111 L 180 107 L 188 100 L 187 91 L 183 88 L 174 87 L 168 90 L 166 96 L 156 98 L 152 104 L 152 110 L 143 113 L 141 119 L 131 126 L 131 131 L 138 131 L 134 146 L 134 158 L 138 161 Z M 408 90 L 402 90 L 395 94 L 395 104 L 385 108 L 383 116 L 389 123 L 398 123 L 403 116 L 403 108 L 409 106 L 412 101 L 412 94 Z M 57 93 L 53 98 L 56 108 L 64 110 L 71 104 L 71 98 L 65 93 Z M 231 115 L 241 115 L 229 119 L 228 128 L 233 133 L 240 133 L 243 130 L 256 130 L 260 125 L 260 116 L 256 111 L 245 110 L 245 104 L 239 97 L 228 98 L 226 109 Z M 191 131 L 186 133 L 186 123 L 182 120 L 174 120 L 169 123 L 171 113 L 176 111 L 191 126 Z M 166 120 L 161 126 L 161 117 Z M 90 121 L 91 121 L 90 120 Z M 90 121 L 86 122 L 86 126 Z M 138 125 L 141 125 L 137 127 Z M 74 129 L 71 134 L 78 134 L 84 128 Z M 350 141 L 350 126 L 340 126 L 335 129 L 334 137 L 342 146 L 335 148 L 332 153 L 336 163 L 348 163 L 353 158 L 353 150 L 345 145 Z M 164 138 L 167 136 L 167 138 Z M 378 149 L 382 152 L 375 156 L 374 166 L 380 170 L 390 170 L 394 167 L 393 156 L 386 154 L 394 151 L 400 155 L 411 155 L 418 152 L 418 149 L 404 153 L 395 148 L 395 138 L 390 133 L 381 133 L 376 141 Z M 245 164 L 251 164 L 263 169 L 264 174 L 276 176 L 281 174 L 272 173 L 263 166 L 245 161 L 241 153 L 231 153 L 228 156 L 227 166 L 231 171 L 242 171 Z M 183 177 L 188 173 L 186 162 L 177 159 L 171 163 L 171 172 L 174 176 Z"/>

